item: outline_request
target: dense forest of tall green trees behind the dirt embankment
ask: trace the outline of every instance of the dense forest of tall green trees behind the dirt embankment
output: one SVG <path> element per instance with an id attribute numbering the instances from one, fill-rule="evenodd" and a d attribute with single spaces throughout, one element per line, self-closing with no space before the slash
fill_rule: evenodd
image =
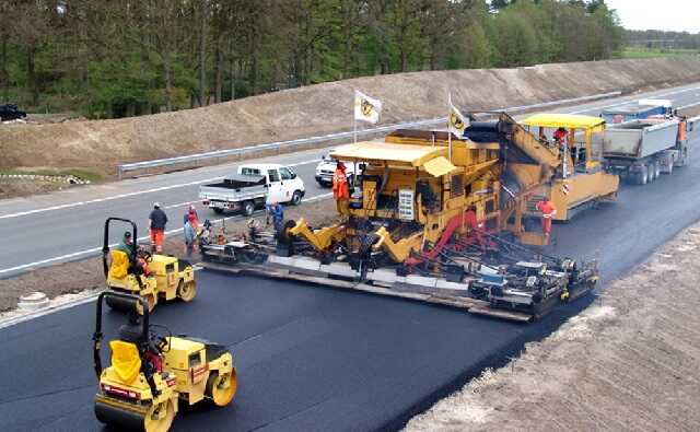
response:
<path id="1" fill-rule="evenodd" d="M 604 0 L 1 0 L 0 102 L 124 117 L 621 45 Z"/>

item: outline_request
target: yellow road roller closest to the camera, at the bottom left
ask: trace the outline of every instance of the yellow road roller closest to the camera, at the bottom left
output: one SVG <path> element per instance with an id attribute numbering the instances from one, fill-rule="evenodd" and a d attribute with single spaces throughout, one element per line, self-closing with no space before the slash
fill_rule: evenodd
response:
<path id="1" fill-rule="evenodd" d="M 108 299 L 130 308 L 128 322 L 119 327 L 119 339 L 109 341 L 110 365 L 103 369 L 102 306 Z M 145 300 L 137 295 L 100 294 L 93 357 L 100 382 L 95 416 L 116 430 L 164 432 L 171 428 L 178 404 L 209 400 L 225 407 L 236 394 L 236 369 L 226 347 L 173 337 L 164 326 L 150 324 Z"/>

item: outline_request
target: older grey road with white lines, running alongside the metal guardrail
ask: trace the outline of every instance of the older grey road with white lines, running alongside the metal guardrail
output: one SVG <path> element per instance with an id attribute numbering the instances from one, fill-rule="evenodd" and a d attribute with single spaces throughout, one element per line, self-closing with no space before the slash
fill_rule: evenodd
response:
<path id="1" fill-rule="evenodd" d="M 598 101 L 560 112 L 597 115 L 600 107 L 619 105 L 640 97 L 665 97 L 675 106 L 700 102 L 700 83 L 657 92 Z M 306 199 L 328 192 L 314 180 L 316 164 L 324 150 L 313 150 L 254 162 L 289 164 L 304 179 Z M 191 170 L 159 176 L 129 179 L 106 185 L 72 188 L 56 194 L 0 200 L 0 238 L 12 247 L 0 250 L 0 278 L 7 278 L 40 266 L 96 255 L 106 218 L 131 219 L 145 234 L 148 214 L 154 201 L 168 213 L 168 229 L 180 229 L 180 218 L 189 203 L 197 202 L 201 184 L 234 173 L 236 164 Z M 200 217 L 219 219 L 199 206 Z M 114 233 L 118 241 L 118 232 Z"/>

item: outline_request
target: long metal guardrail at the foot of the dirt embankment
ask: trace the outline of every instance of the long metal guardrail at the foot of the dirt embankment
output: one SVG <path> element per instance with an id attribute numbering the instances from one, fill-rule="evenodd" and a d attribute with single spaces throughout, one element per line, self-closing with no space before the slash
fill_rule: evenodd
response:
<path id="1" fill-rule="evenodd" d="M 526 109 L 545 108 L 548 106 L 564 105 L 570 103 L 586 102 L 586 101 L 600 100 L 605 97 L 619 96 L 620 94 L 622 94 L 622 92 L 619 92 L 619 91 L 609 92 L 609 93 L 599 93 L 599 94 L 593 94 L 593 95 L 582 96 L 582 97 L 545 102 L 541 104 L 513 106 L 509 108 L 499 108 L 499 109 L 491 109 L 491 110 L 503 110 L 506 113 L 522 112 Z M 445 124 L 446 121 L 447 121 L 447 117 L 438 117 L 438 118 L 431 118 L 427 120 L 406 121 L 406 122 L 399 122 L 394 125 L 381 126 L 376 128 L 360 129 L 357 131 L 357 133 L 358 133 L 358 137 L 364 137 L 364 136 L 374 135 L 374 133 L 390 132 L 397 129 L 407 129 L 407 128 L 416 128 L 419 126 Z M 341 139 L 351 139 L 352 136 L 353 136 L 353 131 L 350 130 L 346 132 L 329 133 L 329 135 L 323 135 L 323 136 L 311 137 L 311 138 L 300 138 L 295 140 L 288 140 L 288 141 L 268 142 L 264 144 L 255 144 L 255 145 L 242 147 L 237 149 L 215 150 L 211 152 L 195 153 L 195 154 L 188 154 L 184 156 L 156 159 L 152 161 L 120 164 L 120 165 L 117 165 L 117 177 L 121 179 L 125 173 L 133 172 L 133 171 L 148 170 L 148 168 L 162 167 L 162 166 L 172 166 L 172 165 L 178 165 L 178 164 L 185 164 L 185 163 L 196 163 L 196 162 L 201 162 L 201 161 L 211 160 L 211 159 L 215 160 L 219 157 L 232 157 L 232 156 L 241 157 L 247 153 L 257 153 L 266 150 L 280 151 L 281 149 L 290 148 L 290 147 L 307 145 L 307 144 L 313 144 L 317 142 L 335 141 L 335 140 L 341 140 Z"/>

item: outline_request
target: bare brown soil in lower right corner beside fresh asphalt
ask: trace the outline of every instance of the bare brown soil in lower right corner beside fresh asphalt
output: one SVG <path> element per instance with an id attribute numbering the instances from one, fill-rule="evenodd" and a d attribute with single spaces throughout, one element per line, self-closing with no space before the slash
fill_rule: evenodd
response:
<path id="1" fill-rule="evenodd" d="M 700 430 L 700 224 L 407 431 Z"/>

